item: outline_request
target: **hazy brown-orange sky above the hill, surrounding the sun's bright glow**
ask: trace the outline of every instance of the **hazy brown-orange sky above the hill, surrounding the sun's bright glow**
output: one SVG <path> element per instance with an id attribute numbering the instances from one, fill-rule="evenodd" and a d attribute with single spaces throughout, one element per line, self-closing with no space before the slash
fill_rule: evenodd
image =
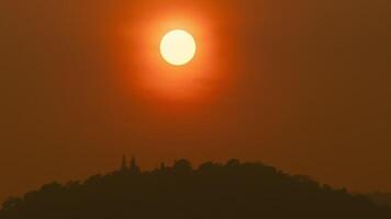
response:
<path id="1" fill-rule="evenodd" d="M 391 191 L 390 11 L 389 0 L 2 0 L 0 200 L 111 171 L 122 154 L 144 168 L 235 157 Z M 144 31 L 166 12 L 211 36 L 198 42 L 214 46 L 208 61 L 189 69 L 208 76 L 176 84 L 197 100 L 143 89 L 158 72 L 138 54 Z"/>

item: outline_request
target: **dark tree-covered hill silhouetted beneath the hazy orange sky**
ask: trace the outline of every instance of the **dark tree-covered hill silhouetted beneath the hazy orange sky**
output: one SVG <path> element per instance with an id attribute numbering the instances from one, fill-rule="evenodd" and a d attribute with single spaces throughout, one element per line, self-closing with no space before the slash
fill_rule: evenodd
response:
<path id="1" fill-rule="evenodd" d="M 365 196 L 260 163 L 187 160 L 141 172 L 135 161 L 107 175 L 51 183 L 8 199 L 0 219 L 390 219 Z"/>

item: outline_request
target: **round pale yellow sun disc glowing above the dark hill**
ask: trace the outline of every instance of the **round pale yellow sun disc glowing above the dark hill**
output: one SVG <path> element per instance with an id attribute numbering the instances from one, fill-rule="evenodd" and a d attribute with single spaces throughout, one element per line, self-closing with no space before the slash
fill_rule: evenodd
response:
<path id="1" fill-rule="evenodd" d="M 194 37 L 187 31 L 174 30 L 161 38 L 161 57 L 172 66 L 187 65 L 194 58 L 196 51 Z"/>

